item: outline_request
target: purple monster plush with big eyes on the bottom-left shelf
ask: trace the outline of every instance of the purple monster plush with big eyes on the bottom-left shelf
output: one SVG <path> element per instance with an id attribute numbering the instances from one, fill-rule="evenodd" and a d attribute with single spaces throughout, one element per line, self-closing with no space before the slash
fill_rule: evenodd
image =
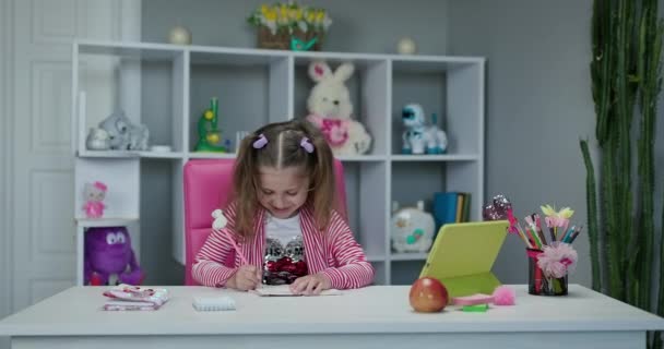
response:
<path id="1" fill-rule="evenodd" d="M 128 285 L 141 285 L 145 275 L 137 263 L 126 227 L 95 227 L 85 232 L 85 285 L 108 285 L 111 275 Z"/>

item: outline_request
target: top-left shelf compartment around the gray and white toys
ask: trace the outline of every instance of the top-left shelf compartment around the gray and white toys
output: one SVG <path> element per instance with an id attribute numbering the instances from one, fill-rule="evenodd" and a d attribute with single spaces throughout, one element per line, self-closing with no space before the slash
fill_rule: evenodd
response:
<path id="1" fill-rule="evenodd" d="M 129 122 L 147 128 L 149 148 L 166 145 L 181 152 L 185 51 L 151 45 L 79 44 L 72 63 L 74 151 L 87 152 L 91 129 L 121 111 Z"/>

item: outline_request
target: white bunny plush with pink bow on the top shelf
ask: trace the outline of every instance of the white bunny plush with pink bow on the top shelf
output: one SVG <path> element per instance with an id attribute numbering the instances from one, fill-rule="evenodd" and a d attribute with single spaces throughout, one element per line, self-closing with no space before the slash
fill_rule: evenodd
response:
<path id="1" fill-rule="evenodd" d="M 352 63 L 343 63 L 333 73 L 323 61 L 309 64 L 309 77 L 316 85 L 307 99 L 307 120 L 321 130 L 334 156 L 365 154 L 371 146 L 365 127 L 352 119 L 353 104 L 344 82 L 354 69 Z"/>

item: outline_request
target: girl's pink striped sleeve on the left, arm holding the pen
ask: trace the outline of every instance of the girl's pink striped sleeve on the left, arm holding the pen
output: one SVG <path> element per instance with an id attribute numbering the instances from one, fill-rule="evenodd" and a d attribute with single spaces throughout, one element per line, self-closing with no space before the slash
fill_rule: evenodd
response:
<path id="1" fill-rule="evenodd" d="M 229 205 L 228 208 L 224 210 L 224 215 L 226 216 L 226 219 L 228 219 L 228 224 L 224 230 L 227 231 L 222 232 L 212 230 L 208 240 L 205 240 L 205 243 L 193 260 L 191 276 L 203 286 L 223 287 L 237 272 L 237 268 L 224 265 L 224 262 L 233 251 L 233 246 L 229 241 L 227 241 L 227 237 L 235 236 L 232 228 L 235 224 L 234 208 L 234 205 Z"/>

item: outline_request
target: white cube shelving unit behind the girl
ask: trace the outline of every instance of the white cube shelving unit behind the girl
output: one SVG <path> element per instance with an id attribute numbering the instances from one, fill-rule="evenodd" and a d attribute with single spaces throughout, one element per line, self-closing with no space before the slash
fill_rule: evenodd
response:
<path id="1" fill-rule="evenodd" d="M 430 210 L 435 192 L 467 192 L 472 197 L 471 220 L 481 218 L 483 58 L 75 41 L 72 103 L 76 108 L 72 108 L 72 139 L 76 207 L 82 205 L 81 191 L 86 181 L 102 180 L 109 186 L 107 220 L 85 219 L 82 210 L 76 209 L 79 266 L 85 228 L 106 224 L 137 226 L 132 243 L 140 250 L 137 248 L 140 231 L 154 229 L 142 219 L 147 214 L 173 217 L 170 227 L 159 230 L 164 233 L 162 238 L 171 234 L 174 249 L 169 252 L 183 263 L 183 165 L 189 159 L 235 157 L 235 154 L 193 152 L 198 137 L 195 123 L 210 98 L 218 97 L 220 128 L 234 143 L 236 131 L 303 118 L 312 86 L 307 65 L 313 59 L 325 60 L 332 69 L 344 61 L 355 64 L 355 74 L 347 85 L 356 118 L 372 135 L 374 145 L 369 154 L 341 158 L 349 224 L 376 266 L 377 284 L 412 282 L 427 254 L 392 251 L 389 238 L 392 201 L 403 207 L 424 200 Z M 450 142 L 447 154 L 400 154 L 401 108 L 407 103 L 419 103 L 427 115 L 438 115 Z M 132 121 L 147 125 L 151 144 L 169 145 L 173 152 L 87 151 L 87 130 L 118 107 Z M 153 182 L 150 176 L 163 176 L 170 182 L 170 188 L 163 188 L 167 197 L 141 191 L 142 183 Z M 169 202 L 168 212 L 147 212 L 158 208 L 151 206 L 151 201 L 159 201 L 162 207 L 163 201 Z"/>

